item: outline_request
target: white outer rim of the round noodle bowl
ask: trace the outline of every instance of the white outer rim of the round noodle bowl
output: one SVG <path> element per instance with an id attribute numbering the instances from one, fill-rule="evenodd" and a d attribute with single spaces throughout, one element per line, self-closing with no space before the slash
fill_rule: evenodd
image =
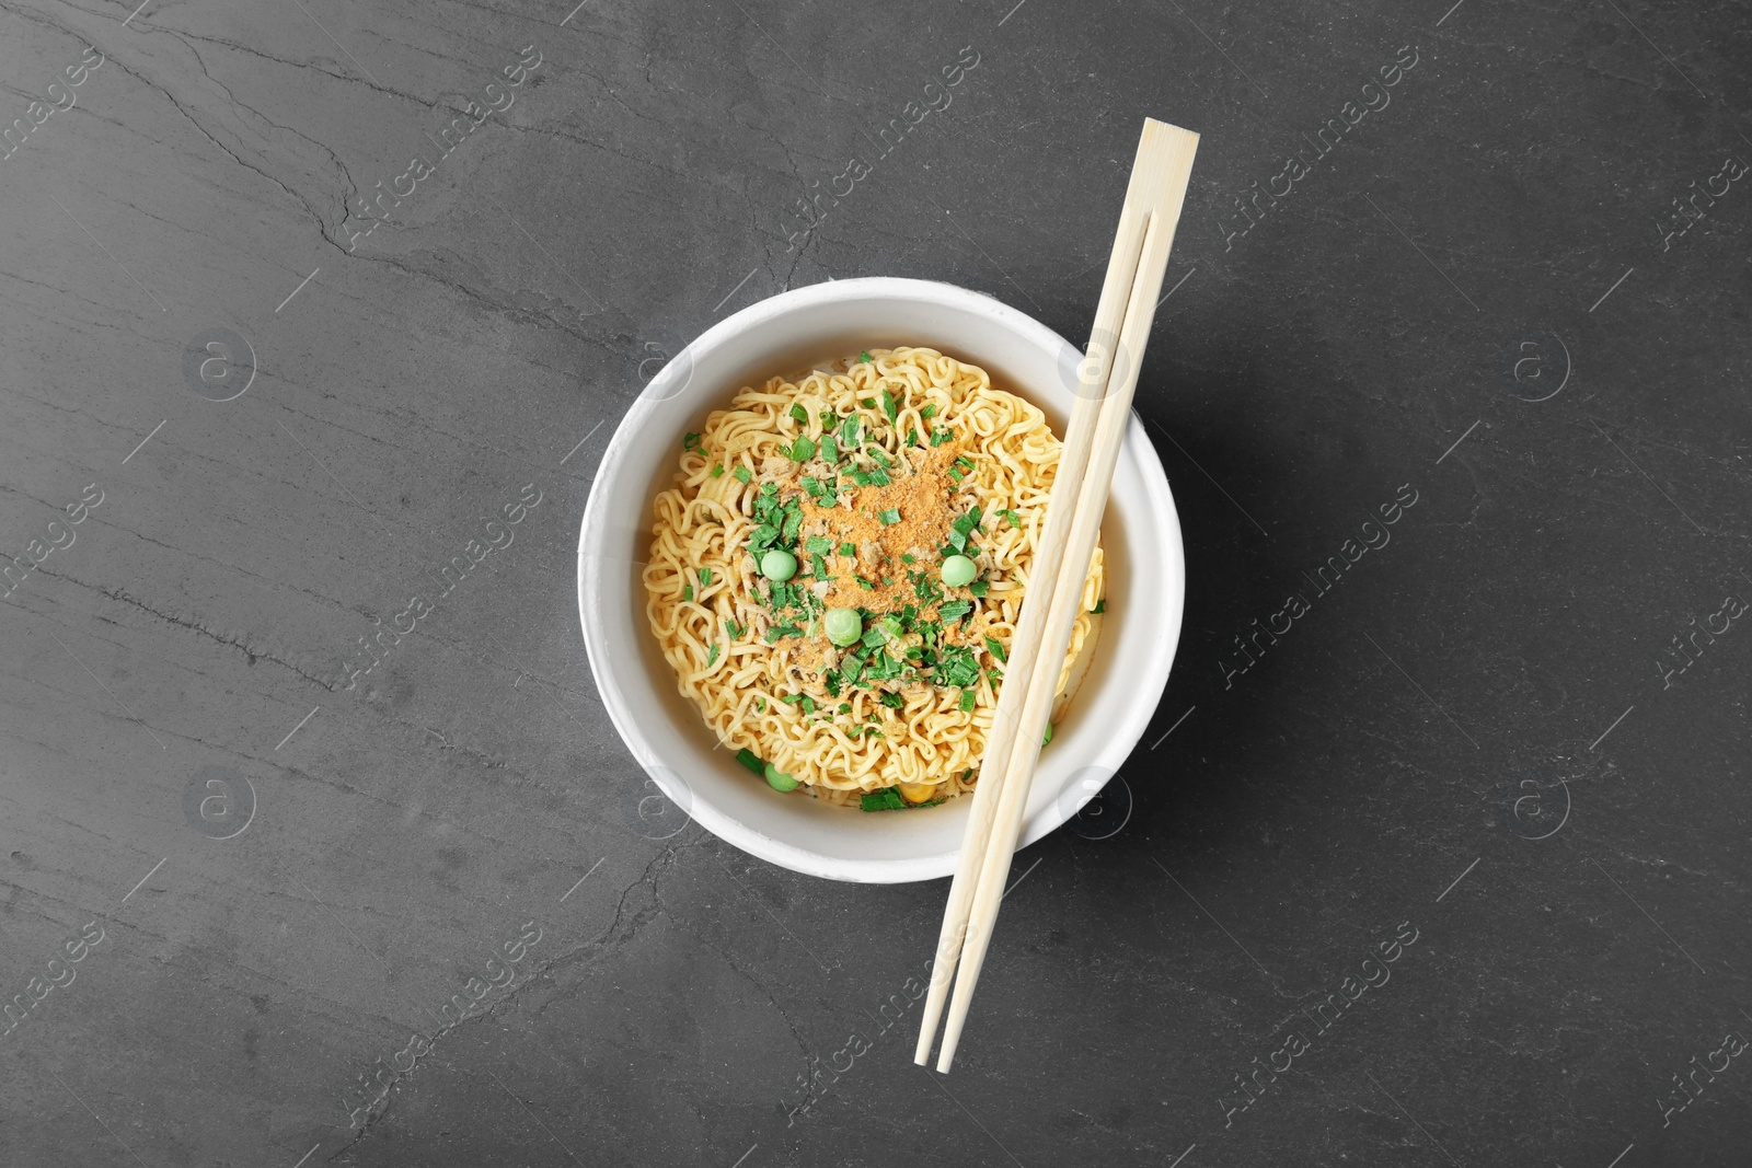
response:
<path id="1" fill-rule="evenodd" d="M 645 774 L 675 806 L 683 811 L 683 814 L 697 821 L 718 839 L 759 856 L 760 860 L 767 860 L 769 863 L 776 863 L 794 872 L 834 881 L 899 884 L 951 876 L 957 867 L 960 848 L 957 846 L 927 856 L 908 856 L 899 860 L 850 860 L 843 856 L 829 856 L 774 839 L 764 834 L 759 827 L 731 818 L 710 802 L 696 799 L 692 785 L 662 762 L 662 753 L 639 730 L 638 721 L 632 718 L 631 702 L 622 692 L 615 672 L 611 669 L 604 669 L 608 646 L 599 644 L 603 630 L 590 620 L 592 608 L 597 611 L 601 609 L 601 604 L 597 602 L 599 588 L 597 581 L 585 571 L 590 559 L 585 553 L 590 532 L 592 529 L 601 529 L 604 525 L 603 508 L 606 503 L 603 503 L 603 497 L 606 492 L 596 490 L 594 483 L 610 482 L 611 476 L 622 473 L 620 462 L 627 457 L 629 447 L 632 445 L 632 434 L 636 434 L 645 420 L 661 408 L 662 401 L 687 387 L 697 354 L 710 354 L 731 336 L 759 329 L 797 308 L 848 299 L 927 301 L 974 315 L 986 315 L 995 324 L 1034 340 L 1046 350 L 1056 348 L 1060 357 L 1063 359 L 1069 355 L 1072 364 L 1081 359 L 1079 348 L 1072 347 L 1070 341 L 1060 336 L 1055 329 L 1035 320 L 1020 308 L 1014 308 L 988 292 L 978 292 L 974 289 L 941 280 L 918 280 L 911 277 L 855 277 L 846 280 L 827 280 L 778 292 L 731 313 L 689 341 L 662 366 L 662 369 L 657 371 L 655 376 L 652 376 L 652 380 L 641 389 L 638 399 L 620 419 L 608 447 L 603 450 L 596 473 L 590 476 L 592 490 L 585 501 L 578 529 L 578 620 L 583 632 L 585 655 L 596 679 L 596 690 L 603 700 L 603 707 L 608 711 L 610 721 L 615 725 L 622 742 L 627 746 L 629 753 L 632 753 Z M 682 385 L 675 385 L 675 382 L 682 382 Z M 1174 496 L 1169 489 L 1167 473 L 1162 469 L 1162 459 L 1156 455 L 1156 448 L 1151 445 L 1149 434 L 1144 431 L 1142 420 L 1135 410 L 1128 419 L 1121 455 L 1128 455 L 1137 461 L 1149 494 L 1146 504 L 1156 515 L 1155 524 L 1149 527 L 1149 534 L 1162 536 L 1160 553 L 1169 562 L 1169 567 L 1172 569 L 1170 578 L 1179 581 L 1179 588 L 1177 595 L 1151 597 L 1153 602 L 1169 606 L 1169 611 L 1165 613 L 1167 651 L 1151 658 L 1151 669 L 1146 676 L 1135 678 L 1137 692 L 1153 695 L 1153 700 L 1148 704 L 1135 702 L 1128 706 L 1123 716 L 1116 720 L 1113 732 L 1097 748 L 1095 756 L 1079 769 L 1081 772 L 1090 767 L 1099 767 L 1107 770 L 1111 777 L 1120 777 L 1120 767 L 1132 755 L 1137 742 L 1142 741 L 1144 730 L 1156 713 L 1160 695 L 1174 665 L 1174 657 L 1179 651 L 1186 604 L 1186 557 L 1181 538 L 1179 511 L 1174 506 Z M 1083 792 L 1083 799 L 1079 800 L 1060 797 L 1048 802 L 1034 816 L 1023 821 L 1021 834 L 1016 841 L 1016 851 L 1021 851 L 1067 823 L 1083 811 L 1083 806 L 1086 806 L 1099 790 L 1099 786 L 1086 788 Z"/>

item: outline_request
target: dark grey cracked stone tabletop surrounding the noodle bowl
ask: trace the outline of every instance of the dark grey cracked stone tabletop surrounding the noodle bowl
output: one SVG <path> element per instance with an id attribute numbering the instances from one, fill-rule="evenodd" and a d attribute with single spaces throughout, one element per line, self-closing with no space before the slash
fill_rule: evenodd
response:
<path id="1" fill-rule="evenodd" d="M 1752 1033 L 1752 629 L 1675 643 L 1752 601 L 1743 5 L 571 4 L 0 7 L 0 124 L 44 119 L 0 161 L 0 550 L 47 552 L 0 611 L 4 1163 L 1743 1159 L 1752 1059 L 1698 1068 Z M 785 287 L 1086 334 L 1144 116 L 1204 135 L 1137 405 L 1186 630 L 1130 816 L 1018 856 L 937 1079 L 881 1007 L 946 883 L 664 818 L 578 515 L 645 376 Z"/>

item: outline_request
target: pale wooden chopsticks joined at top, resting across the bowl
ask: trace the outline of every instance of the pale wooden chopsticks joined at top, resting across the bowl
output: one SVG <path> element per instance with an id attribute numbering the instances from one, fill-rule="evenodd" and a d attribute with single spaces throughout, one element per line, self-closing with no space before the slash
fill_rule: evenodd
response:
<path id="1" fill-rule="evenodd" d="M 930 1058 L 953 979 L 955 1000 L 950 1002 L 943 1033 L 939 1072 L 948 1072 L 955 1058 L 979 967 L 997 925 L 1004 879 L 1016 851 L 1053 692 L 1083 604 L 1083 581 L 1132 417 L 1132 392 L 1137 389 L 1137 371 L 1149 341 L 1149 324 L 1156 315 L 1156 296 L 1169 266 L 1169 249 L 1181 219 L 1181 203 L 1186 201 L 1197 149 L 1197 133 L 1144 119 L 1132 180 L 1120 210 L 1120 229 L 1107 259 L 1107 280 L 1095 310 L 1095 327 L 1077 368 L 1077 399 L 1058 455 L 1041 543 L 1034 550 L 1021 620 L 1009 646 L 1004 685 L 986 735 L 979 786 L 974 788 L 967 834 L 962 837 L 960 862 L 950 886 L 950 905 L 937 937 L 930 995 L 913 1061 L 923 1066 Z M 1042 581 L 1049 581 L 1049 587 L 1041 587 Z"/>

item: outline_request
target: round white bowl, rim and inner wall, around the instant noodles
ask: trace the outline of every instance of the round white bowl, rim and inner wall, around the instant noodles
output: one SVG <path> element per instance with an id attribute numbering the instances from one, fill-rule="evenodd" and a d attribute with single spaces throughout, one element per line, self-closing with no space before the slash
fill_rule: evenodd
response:
<path id="1" fill-rule="evenodd" d="M 608 443 L 578 536 L 578 615 L 596 685 L 632 756 L 683 813 L 762 860 L 836 881 L 950 876 L 971 797 L 862 813 L 780 795 L 748 774 L 682 697 L 645 618 L 639 571 L 652 499 L 669 487 L 682 436 L 743 385 L 862 348 L 925 345 L 981 366 L 1041 406 L 1063 438 L 1083 354 L 1044 324 L 950 284 L 830 280 L 750 305 L 671 359 Z M 1186 566 L 1162 462 L 1132 417 L 1102 524 L 1107 608 L 1100 641 L 1028 797 L 1023 846 L 1081 811 L 1149 723 L 1181 634 Z M 641 818 L 680 816 L 652 795 Z M 666 811 L 668 818 L 645 814 Z"/>

